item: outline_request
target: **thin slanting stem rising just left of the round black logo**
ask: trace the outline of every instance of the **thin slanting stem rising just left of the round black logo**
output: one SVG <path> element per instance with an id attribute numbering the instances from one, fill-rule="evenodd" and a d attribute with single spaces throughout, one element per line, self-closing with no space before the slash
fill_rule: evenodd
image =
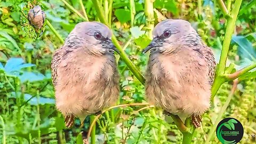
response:
<path id="1" fill-rule="evenodd" d="M 212 138 L 212 135 L 213 135 L 213 133 L 214 133 L 214 131 L 215 131 L 215 127 L 217 127 L 218 123 L 219 123 L 220 120 L 221 120 L 222 115 L 225 113 L 225 111 L 226 111 L 226 109 L 227 109 L 227 107 L 228 107 L 228 105 L 229 105 L 229 102 L 230 102 L 231 98 L 233 98 L 233 95 L 234 95 L 234 93 L 235 93 L 237 84 L 238 84 L 238 80 L 236 79 L 236 80 L 234 80 L 234 83 L 233 83 L 231 92 L 230 92 L 230 94 L 228 95 L 228 98 L 226 99 L 226 102 L 224 103 L 224 105 L 222 106 L 221 110 L 219 111 L 219 115 L 218 115 L 216 121 L 214 122 L 214 124 L 212 125 L 212 127 L 211 127 L 211 129 L 210 129 L 210 132 L 209 132 L 209 134 L 208 134 L 208 137 L 207 137 L 205 143 L 209 143 L 209 142 L 210 142 L 210 140 L 211 140 L 211 138 Z"/>

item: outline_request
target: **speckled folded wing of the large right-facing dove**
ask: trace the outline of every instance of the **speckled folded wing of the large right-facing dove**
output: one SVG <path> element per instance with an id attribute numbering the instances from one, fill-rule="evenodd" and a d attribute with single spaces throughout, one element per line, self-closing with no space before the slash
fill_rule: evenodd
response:
<path id="1" fill-rule="evenodd" d="M 52 69 L 52 83 L 54 86 L 57 84 L 57 76 L 58 76 L 58 65 L 62 58 L 63 53 L 61 52 L 61 48 L 54 52 L 51 60 L 51 69 Z"/>

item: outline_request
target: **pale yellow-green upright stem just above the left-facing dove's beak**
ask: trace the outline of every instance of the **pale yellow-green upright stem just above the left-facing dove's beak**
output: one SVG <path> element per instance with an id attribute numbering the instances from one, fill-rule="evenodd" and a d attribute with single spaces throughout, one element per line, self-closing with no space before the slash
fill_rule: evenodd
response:
<path id="1" fill-rule="evenodd" d="M 153 38 L 152 36 L 152 31 L 154 29 L 154 6 L 153 6 L 153 2 L 152 0 L 145 0 L 145 15 L 147 17 L 147 28 L 149 29 L 148 31 L 148 36 L 150 39 Z"/>

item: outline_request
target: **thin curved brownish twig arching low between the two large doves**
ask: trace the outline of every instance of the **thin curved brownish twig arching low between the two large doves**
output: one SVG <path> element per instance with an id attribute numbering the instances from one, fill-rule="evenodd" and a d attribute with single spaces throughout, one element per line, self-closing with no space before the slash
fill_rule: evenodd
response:
<path id="1" fill-rule="evenodd" d="M 130 103 L 130 104 L 124 104 L 124 105 L 117 105 L 117 106 L 109 107 L 109 108 L 103 110 L 102 113 L 99 114 L 99 115 L 97 115 L 97 116 L 94 118 L 93 122 L 91 123 L 90 129 L 89 129 L 89 131 L 88 131 L 88 133 L 87 133 L 87 139 L 88 139 L 88 138 L 90 137 L 90 135 L 91 135 L 91 131 L 92 131 L 93 125 L 96 123 L 96 121 L 99 119 L 99 117 L 100 117 L 103 113 L 105 113 L 106 111 L 108 111 L 108 110 L 110 110 L 110 109 L 113 109 L 113 108 L 119 108 L 119 107 L 127 107 L 127 106 L 145 106 L 145 105 L 148 105 L 148 103 Z"/>

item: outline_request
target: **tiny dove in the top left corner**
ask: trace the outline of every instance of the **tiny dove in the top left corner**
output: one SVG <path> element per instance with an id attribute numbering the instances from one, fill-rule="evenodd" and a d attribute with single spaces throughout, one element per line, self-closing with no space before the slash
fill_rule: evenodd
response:
<path id="1" fill-rule="evenodd" d="M 45 19 L 46 15 L 39 5 L 33 7 L 33 9 L 30 9 L 28 12 L 28 20 L 36 29 L 43 27 Z"/>

